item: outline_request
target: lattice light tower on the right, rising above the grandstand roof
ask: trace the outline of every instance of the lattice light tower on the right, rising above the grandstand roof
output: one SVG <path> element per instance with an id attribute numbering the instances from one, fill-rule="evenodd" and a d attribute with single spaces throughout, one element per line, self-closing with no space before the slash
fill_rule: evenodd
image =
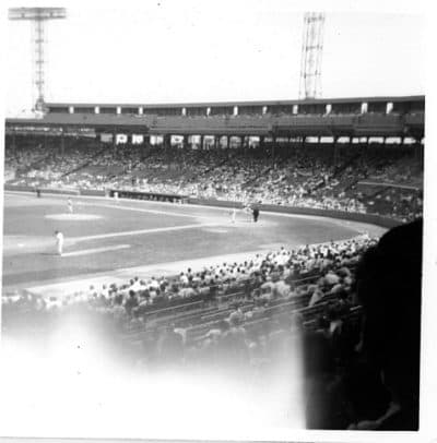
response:
<path id="1" fill-rule="evenodd" d="M 300 58 L 299 98 L 321 97 L 324 13 L 306 12 Z"/>

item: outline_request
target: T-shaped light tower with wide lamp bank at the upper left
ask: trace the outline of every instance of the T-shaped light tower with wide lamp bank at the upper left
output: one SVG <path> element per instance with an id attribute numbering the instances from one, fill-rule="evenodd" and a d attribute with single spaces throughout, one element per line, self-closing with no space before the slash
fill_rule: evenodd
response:
<path id="1" fill-rule="evenodd" d="M 37 99 L 35 109 L 44 110 L 45 99 L 45 45 L 46 45 L 46 23 L 49 20 L 66 19 L 64 8 L 11 8 L 9 20 L 26 20 L 33 25 L 32 51 L 33 51 L 33 83 L 36 86 Z"/>

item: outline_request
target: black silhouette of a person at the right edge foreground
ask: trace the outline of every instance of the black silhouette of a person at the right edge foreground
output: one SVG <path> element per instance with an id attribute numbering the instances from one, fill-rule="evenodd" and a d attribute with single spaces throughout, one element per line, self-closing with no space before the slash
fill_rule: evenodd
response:
<path id="1" fill-rule="evenodd" d="M 356 289 L 365 310 L 363 351 L 390 393 L 386 411 L 351 429 L 417 430 L 422 219 L 391 229 L 364 255 Z"/>

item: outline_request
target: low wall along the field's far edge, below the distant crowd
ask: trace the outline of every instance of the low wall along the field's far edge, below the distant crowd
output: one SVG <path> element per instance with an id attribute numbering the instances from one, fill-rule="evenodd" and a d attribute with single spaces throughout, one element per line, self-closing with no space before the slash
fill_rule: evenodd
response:
<path id="1" fill-rule="evenodd" d="M 35 192 L 34 188 L 25 185 L 4 185 L 5 191 L 23 191 L 23 192 Z M 105 191 L 97 191 L 91 189 L 84 189 L 80 192 L 72 191 L 69 189 L 40 189 L 42 193 L 52 193 L 52 194 L 70 194 L 70 195 L 88 195 L 88 196 L 105 196 Z M 132 199 L 138 200 L 135 194 L 141 194 L 140 192 L 131 193 Z M 158 194 L 156 194 L 158 195 Z M 238 207 L 243 208 L 243 203 L 240 202 L 229 202 L 224 200 L 206 200 L 206 199 L 192 199 L 186 200 L 189 204 L 204 205 L 204 206 L 215 206 L 215 207 Z M 316 209 L 311 207 L 292 207 L 292 206 L 281 206 L 272 204 L 259 204 L 257 205 L 260 212 L 272 212 L 272 213 L 283 213 L 283 214 L 298 214 L 298 215 L 315 215 L 319 217 L 338 218 L 351 222 L 368 223 L 370 225 L 382 226 L 385 228 L 392 228 L 393 226 L 400 225 L 400 222 L 393 220 L 389 217 L 382 217 L 380 215 L 374 214 L 357 214 L 349 213 L 344 211 L 329 211 L 329 209 Z"/>

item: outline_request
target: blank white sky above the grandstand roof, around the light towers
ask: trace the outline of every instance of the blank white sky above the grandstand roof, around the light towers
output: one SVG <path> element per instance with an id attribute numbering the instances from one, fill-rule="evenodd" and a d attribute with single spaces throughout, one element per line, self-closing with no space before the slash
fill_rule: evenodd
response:
<path id="1" fill-rule="evenodd" d="M 74 4 L 47 26 L 47 101 L 298 97 L 302 3 Z M 7 23 L 7 115 L 32 107 L 31 36 L 28 22 Z M 418 14 L 327 11 L 322 96 L 423 94 L 423 40 Z"/>

